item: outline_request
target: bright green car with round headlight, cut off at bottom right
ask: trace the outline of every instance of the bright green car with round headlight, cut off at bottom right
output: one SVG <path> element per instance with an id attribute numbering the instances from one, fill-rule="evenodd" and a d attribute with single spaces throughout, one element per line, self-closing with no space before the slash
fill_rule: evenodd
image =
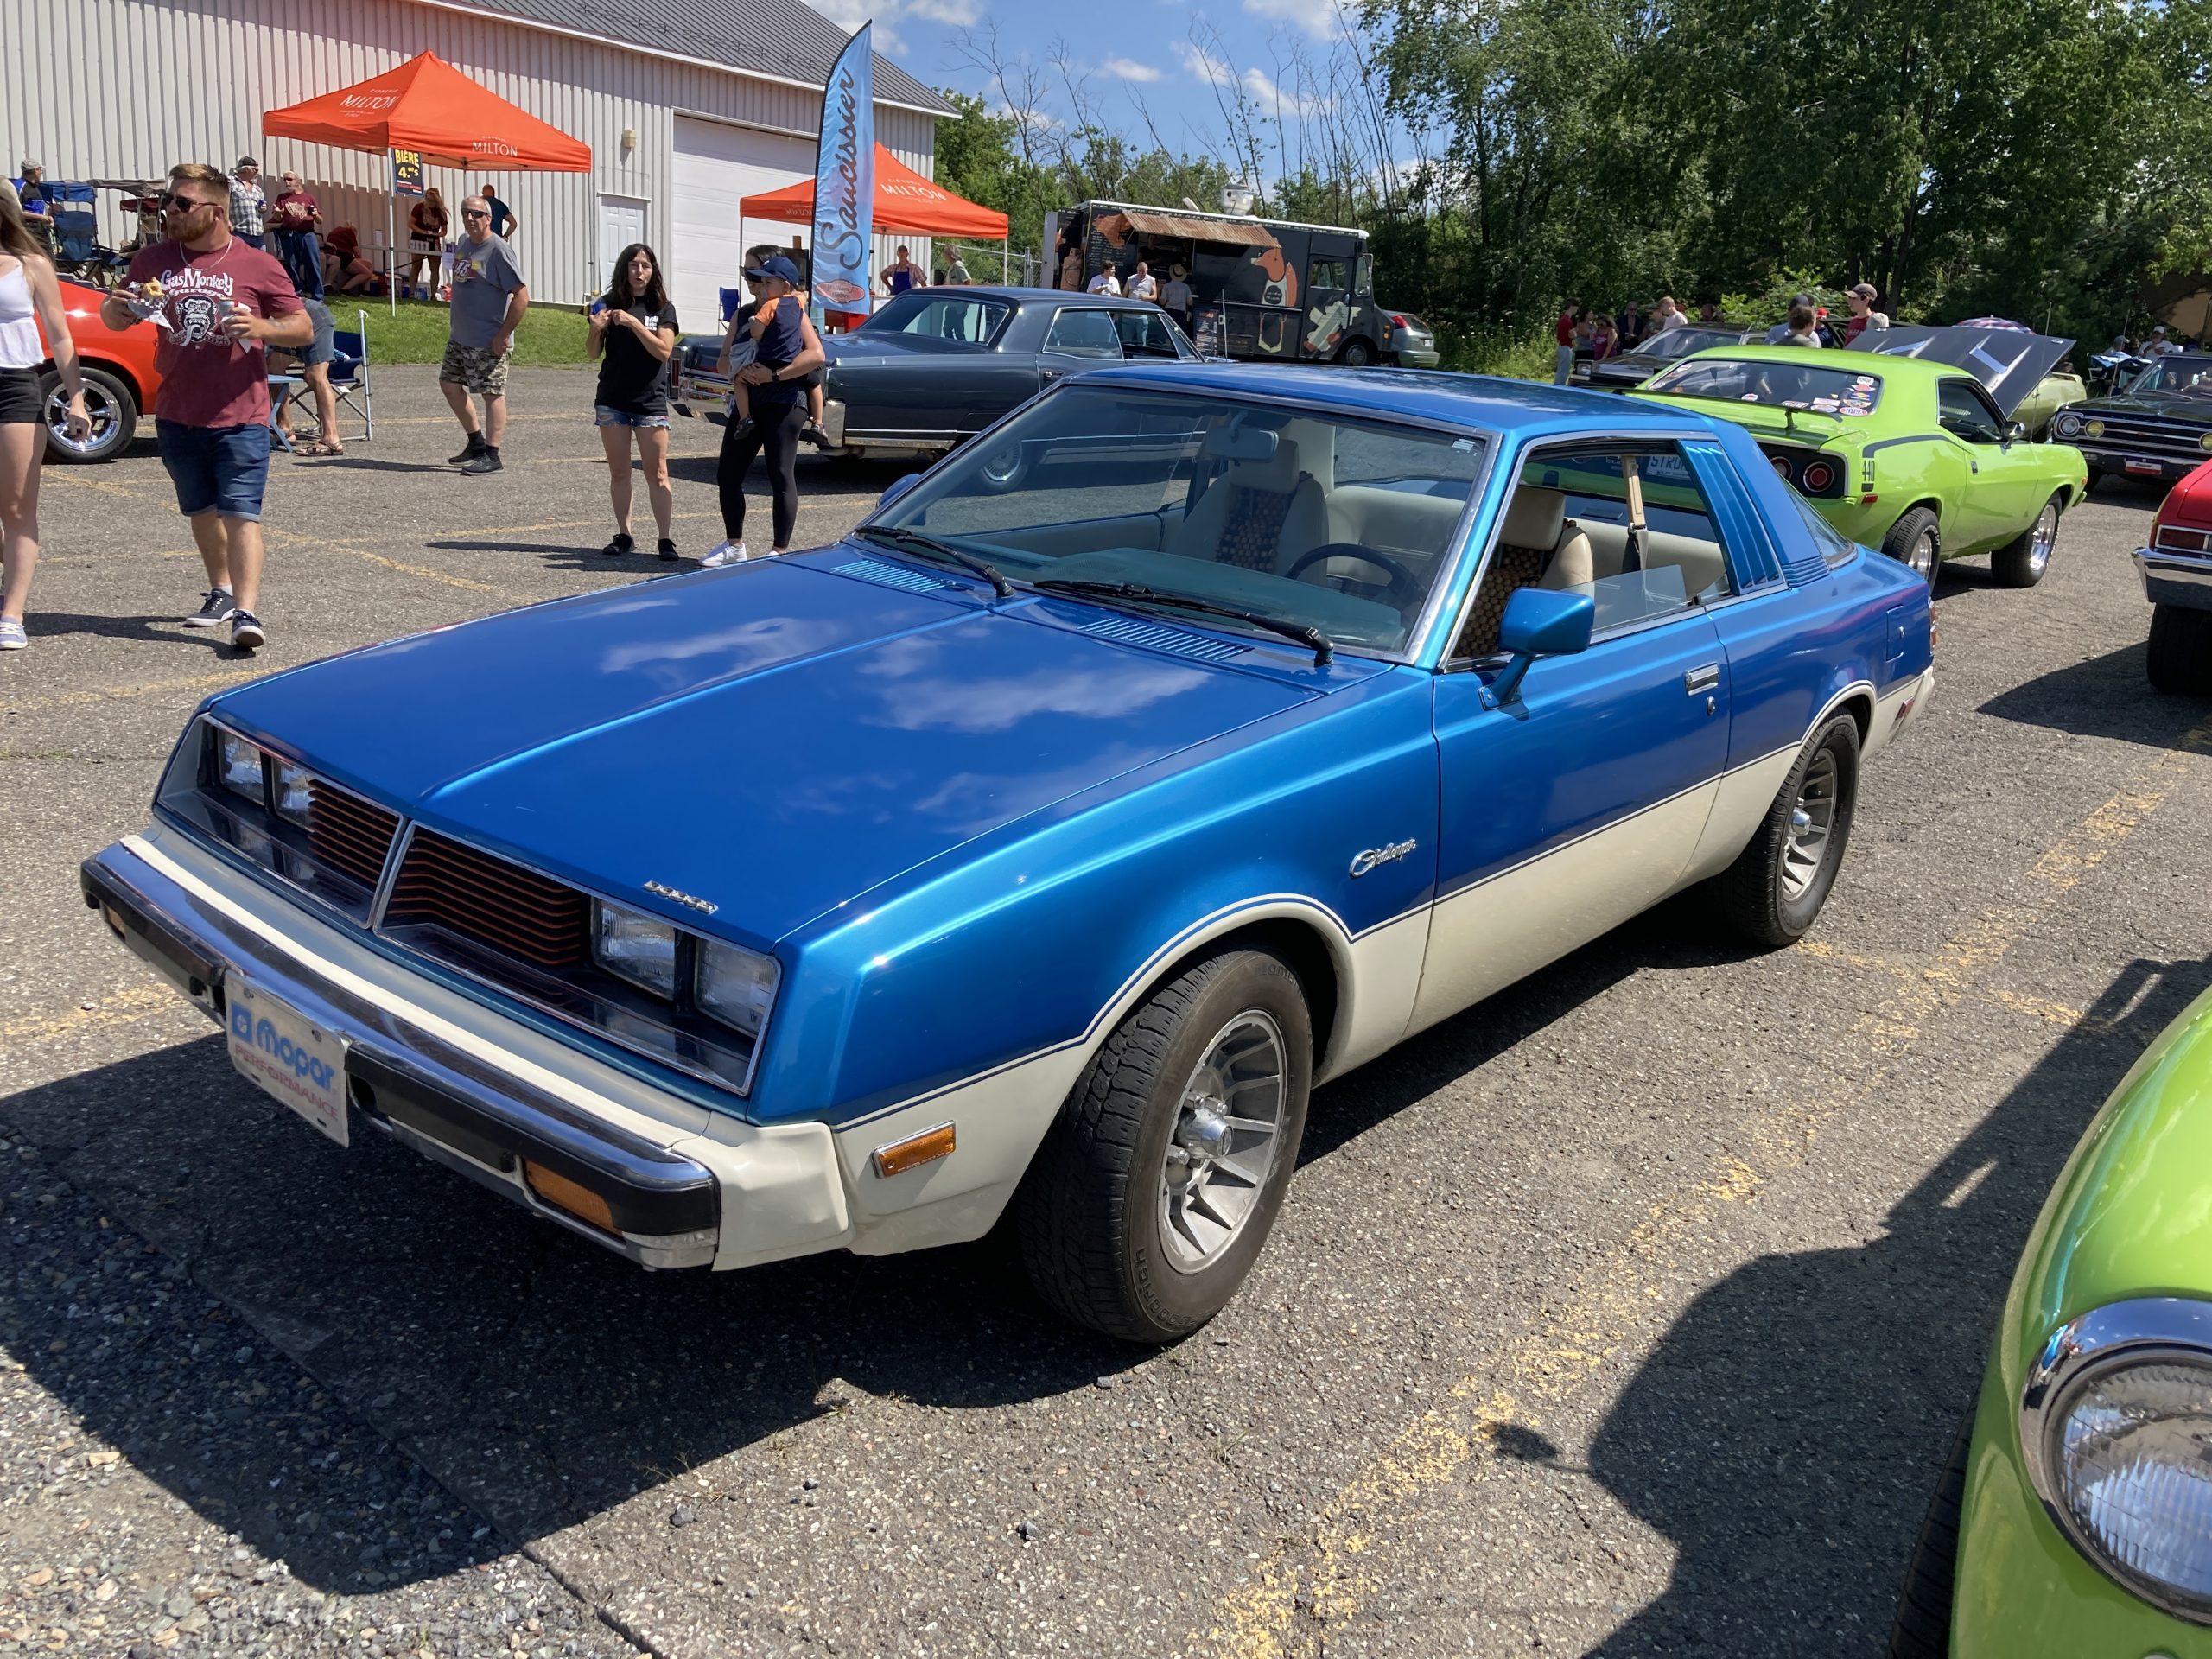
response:
<path id="1" fill-rule="evenodd" d="M 2212 1655 L 2212 993 L 2112 1091 L 2028 1234 L 1891 1652 Z"/>

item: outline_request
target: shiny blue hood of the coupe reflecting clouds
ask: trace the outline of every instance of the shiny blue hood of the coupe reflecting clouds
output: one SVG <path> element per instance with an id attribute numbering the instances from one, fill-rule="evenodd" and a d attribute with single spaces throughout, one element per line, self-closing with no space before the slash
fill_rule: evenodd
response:
<path id="1" fill-rule="evenodd" d="M 1086 633 L 1091 606 L 885 582 L 931 584 L 827 549 L 394 639 L 210 708 L 434 830 L 608 894 L 692 894 L 752 942 L 1374 670 L 1270 646 L 1221 666 Z"/>

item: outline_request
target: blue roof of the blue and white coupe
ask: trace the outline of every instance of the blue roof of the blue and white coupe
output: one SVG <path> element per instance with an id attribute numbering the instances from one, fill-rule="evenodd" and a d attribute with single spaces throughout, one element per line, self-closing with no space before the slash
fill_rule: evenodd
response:
<path id="1" fill-rule="evenodd" d="M 1555 431 L 1670 431 L 1710 425 L 1690 409 L 1624 403 L 1610 392 L 1577 392 L 1542 380 L 1438 369 L 1338 369 L 1307 363 L 1177 363 L 1091 369 L 1084 383 L 1159 385 L 1325 403 L 1347 414 L 1489 427 L 1528 436 Z"/>

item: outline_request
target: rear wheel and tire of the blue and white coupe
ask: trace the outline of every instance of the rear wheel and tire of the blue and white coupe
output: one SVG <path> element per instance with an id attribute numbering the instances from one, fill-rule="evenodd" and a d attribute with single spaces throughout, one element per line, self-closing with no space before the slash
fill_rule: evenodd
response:
<path id="1" fill-rule="evenodd" d="M 1820 916 L 1858 810 L 1858 721 L 1812 734 L 1759 834 L 1714 878 L 1728 925 L 1754 945 L 1796 945 Z"/>

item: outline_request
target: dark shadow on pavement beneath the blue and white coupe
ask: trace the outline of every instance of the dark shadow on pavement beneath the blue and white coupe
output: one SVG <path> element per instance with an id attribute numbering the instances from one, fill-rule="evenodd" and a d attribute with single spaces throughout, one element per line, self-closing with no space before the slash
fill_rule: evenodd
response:
<path id="1" fill-rule="evenodd" d="M 1683 905 L 1630 922 L 1323 1091 L 1305 1159 L 1639 969 L 1736 953 L 1701 942 Z M 341 1506 L 299 1493 L 330 1484 L 343 1436 L 389 1438 L 511 1540 L 529 1540 L 856 1394 L 1004 1407 L 1146 1358 L 1037 1305 L 1002 1237 L 644 1274 L 369 1128 L 356 1124 L 349 1148 L 325 1141 L 246 1084 L 215 1035 L 15 1093 L 0 1115 L 44 1148 L 44 1168 L 97 1194 L 71 1203 L 131 1228 L 128 1254 L 142 1252 L 135 1239 L 161 1252 L 146 1263 L 166 1259 L 177 1298 L 212 1332 L 190 1336 L 186 1358 L 93 1367 L 80 1345 L 49 1352 L 42 1334 L 75 1318 L 84 1283 L 113 1272 L 100 1239 L 115 1234 L 69 1234 L 9 1206 L 0 1237 L 18 1252 L 35 1245 L 49 1265 L 22 1279 L 13 1314 L 0 1305 L 0 1336 L 133 1467 L 325 1590 L 434 1577 L 476 1546 L 427 1484 L 407 1502 L 453 1531 L 438 1553 L 420 1537 L 385 1542 L 365 1564 L 352 1544 L 303 1533 L 303 1509 Z M 232 1347 L 257 1340 L 276 1343 L 341 1409 L 316 1416 L 327 1402 L 310 1411 L 290 1383 L 254 1396 L 246 1376 L 210 1380 Z M 223 1451 L 232 1444 L 241 1451 Z M 365 1453 L 347 1451 L 336 1473 L 354 1462 Z M 285 1495 L 272 1502 L 274 1491 Z"/>

